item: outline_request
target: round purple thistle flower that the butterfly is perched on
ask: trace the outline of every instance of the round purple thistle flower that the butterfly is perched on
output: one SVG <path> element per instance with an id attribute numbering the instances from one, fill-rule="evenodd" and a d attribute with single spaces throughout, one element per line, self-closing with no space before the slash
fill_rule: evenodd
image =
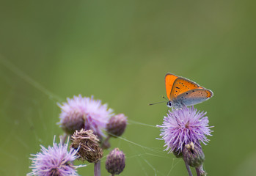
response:
<path id="1" fill-rule="evenodd" d="M 212 131 L 205 114 L 206 112 L 194 109 L 194 106 L 169 111 L 167 117 L 164 117 L 163 125 L 157 125 L 161 128 L 160 136 L 163 136 L 166 150 L 180 153 L 184 145 L 190 142 L 206 144 L 209 141 L 206 136 L 211 136 Z"/>

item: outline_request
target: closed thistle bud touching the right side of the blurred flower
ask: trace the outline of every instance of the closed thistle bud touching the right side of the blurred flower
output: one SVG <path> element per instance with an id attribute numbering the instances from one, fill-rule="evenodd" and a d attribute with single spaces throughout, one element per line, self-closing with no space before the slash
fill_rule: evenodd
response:
<path id="1" fill-rule="evenodd" d="M 127 124 L 127 117 L 124 114 L 117 114 L 109 119 L 106 125 L 106 131 L 111 136 L 121 136 L 125 131 Z"/>

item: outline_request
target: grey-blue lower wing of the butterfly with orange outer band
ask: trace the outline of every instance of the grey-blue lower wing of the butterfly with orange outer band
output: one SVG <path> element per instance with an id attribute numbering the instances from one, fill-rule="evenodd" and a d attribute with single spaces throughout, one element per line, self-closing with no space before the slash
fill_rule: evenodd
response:
<path id="1" fill-rule="evenodd" d="M 192 106 L 198 103 L 202 103 L 212 96 L 213 92 L 211 92 L 209 89 L 191 89 L 178 95 L 175 101 L 182 102 L 186 106 Z"/>

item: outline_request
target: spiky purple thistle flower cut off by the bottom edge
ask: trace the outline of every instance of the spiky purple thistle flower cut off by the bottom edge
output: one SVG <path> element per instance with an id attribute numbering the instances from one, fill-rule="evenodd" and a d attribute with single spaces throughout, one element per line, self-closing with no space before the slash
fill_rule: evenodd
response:
<path id="1" fill-rule="evenodd" d="M 54 137 L 55 141 L 55 137 Z M 45 148 L 41 145 L 41 152 L 33 155 L 32 172 L 27 175 L 43 175 L 43 176 L 65 176 L 65 175 L 78 175 L 76 168 L 85 166 L 73 166 L 73 161 L 78 158 L 76 156 L 77 150 L 73 148 L 67 151 L 67 144 L 56 144 L 53 147 Z"/>

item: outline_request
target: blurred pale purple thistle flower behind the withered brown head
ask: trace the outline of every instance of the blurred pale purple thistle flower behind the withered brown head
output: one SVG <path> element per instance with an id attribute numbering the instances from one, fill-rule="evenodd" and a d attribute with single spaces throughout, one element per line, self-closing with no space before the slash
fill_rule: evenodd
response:
<path id="1" fill-rule="evenodd" d="M 78 95 L 73 99 L 67 98 L 67 103 L 58 106 L 62 109 L 58 124 L 66 133 L 73 134 L 84 128 L 91 129 L 100 139 L 104 136 L 102 130 L 106 128 L 112 110 L 106 104 L 102 105 L 100 100 Z"/>

